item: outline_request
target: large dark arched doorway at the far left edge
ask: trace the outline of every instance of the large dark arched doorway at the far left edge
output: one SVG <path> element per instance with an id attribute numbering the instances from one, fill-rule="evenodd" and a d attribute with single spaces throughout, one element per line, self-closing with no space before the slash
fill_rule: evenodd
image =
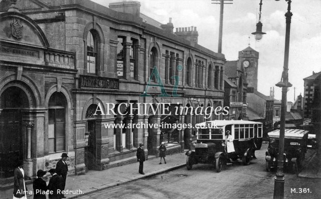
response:
<path id="1" fill-rule="evenodd" d="M 0 177 L 13 176 L 18 160 L 24 159 L 22 110 L 29 108 L 26 93 L 19 87 L 8 87 L 0 96 Z"/>

